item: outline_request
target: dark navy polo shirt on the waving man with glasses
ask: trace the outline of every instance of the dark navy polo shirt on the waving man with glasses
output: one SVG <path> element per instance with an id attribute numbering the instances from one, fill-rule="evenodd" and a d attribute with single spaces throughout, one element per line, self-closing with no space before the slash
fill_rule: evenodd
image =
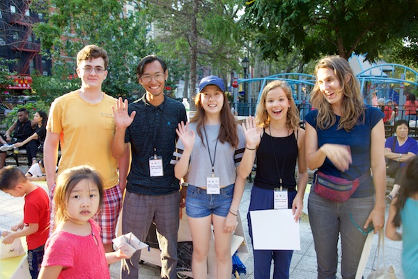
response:
<path id="1" fill-rule="evenodd" d="M 129 105 L 129 114 L 132 111 L 137 115 L 125 134 L 125 142 L 130 142 L 132 152 L 127 191 L 140 195 L 168 195 L 178 191 L 178 179 L 174 177 L 170 160 L 176 149 L 178 123 L 187 121 L 185 106 L 164 96 L 164 102 L 155 107 L 144 94 Z M 154 156 L 154 148 L 157 156 L 162 157 L 163 176 L 150 176 L 149 159 Z"/>

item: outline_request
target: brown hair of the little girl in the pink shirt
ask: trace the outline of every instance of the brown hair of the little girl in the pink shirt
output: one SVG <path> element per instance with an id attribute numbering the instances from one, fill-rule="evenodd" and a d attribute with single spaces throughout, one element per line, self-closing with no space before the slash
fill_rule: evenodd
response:
<path id="1" fill-rule="evenodd" d="M 98 188 L 100 195 L 99 210 L 102 207 L 103 180 L 98 171 L 88 165 L 65 169 L 65 171 L 58 176 L 54 193 L 54 202 L 56 204 L 56 213 L 54 218 L 56 227 L 58 227 L 59 223 L 68 220 L 68 199 L 70 199 L 71 191 L 80 181 L 84 179 L 88 180 L 91 185 Z"/>

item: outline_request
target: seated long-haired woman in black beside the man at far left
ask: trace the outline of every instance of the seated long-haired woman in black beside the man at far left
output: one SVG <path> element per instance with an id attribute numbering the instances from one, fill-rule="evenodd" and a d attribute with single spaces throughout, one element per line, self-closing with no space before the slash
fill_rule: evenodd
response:
<path id="1" fill-rule="evenodd" d="M 13 144 L 13 148 L 20 148 L 26 144 L 26 154 L 28 156 L 28 160 L 29 158 L 32 160 L 32 162 L 28 161 L 28 164 L 31 162 L 30 164 L 34 165 L 38 162 L 38 160 L 36 160 L 36 153 L 38 152 L 38 147 L 40 145 L 42 145 L 42 150 L 40 151 L 43 152 L 43 142 L 45 141 L 45 135 L 47 135 L 47 130 L 45 128 L 47 126 L 47 120 L 47 114 L 42 112 L 42 110 L 38 110 L 38 112 L 36 112 L 33 116 L 32 121 L 32 123 L 36 124 L 34 125 L 35 127 L 33 127 L 35 128 L 36 132 L 23 142 L 17 142 Z M 3 146 L 0 147 L 0 150 L 2 147 Z"/>

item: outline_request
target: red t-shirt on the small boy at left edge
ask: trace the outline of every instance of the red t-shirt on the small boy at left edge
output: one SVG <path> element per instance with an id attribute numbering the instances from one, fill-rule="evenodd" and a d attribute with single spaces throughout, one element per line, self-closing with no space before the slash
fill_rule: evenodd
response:
<path id="1" fill-rule="evenodd" d="M 23 223 L 38 224 L 38 231 L 26 236 L 28 249 L 33 250 L 45 245 L 49 236 L 49 197 L 45 190 L 38 187 L 24 197 Z"/>

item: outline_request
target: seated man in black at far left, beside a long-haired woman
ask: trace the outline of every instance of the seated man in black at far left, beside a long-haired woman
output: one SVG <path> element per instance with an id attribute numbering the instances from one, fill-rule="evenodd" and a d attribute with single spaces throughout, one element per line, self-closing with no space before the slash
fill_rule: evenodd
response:
<path id="1" fill-rule="evenodd" d="M 6 152 L 8 150 L 13 149 L 13 143 L 15 142 L 23 142 L 28 137 L 33 134 L 32 126 L 35 123 L 32 123 L 29 120 L 29 112 L 24 107 L 17 110 L 17 120 L 13 125 L 6 130 L 4 136 L 6 137 L 6 142 L 3 139 L 0 140 L 3 145 L 0 147 L 0 169 L 4 167 L 6 161 Z M 13 138 L 10 136 L 11 133 L 14 131 Z M 22 146 L 23 147 L 23 146 Z M 26 147 L 26 146 L 25 146 Z M 29 155 L 29 154 L 28 154 Z M 30 164 L 32 158 L 28 157 L 28 162 Z"/>

